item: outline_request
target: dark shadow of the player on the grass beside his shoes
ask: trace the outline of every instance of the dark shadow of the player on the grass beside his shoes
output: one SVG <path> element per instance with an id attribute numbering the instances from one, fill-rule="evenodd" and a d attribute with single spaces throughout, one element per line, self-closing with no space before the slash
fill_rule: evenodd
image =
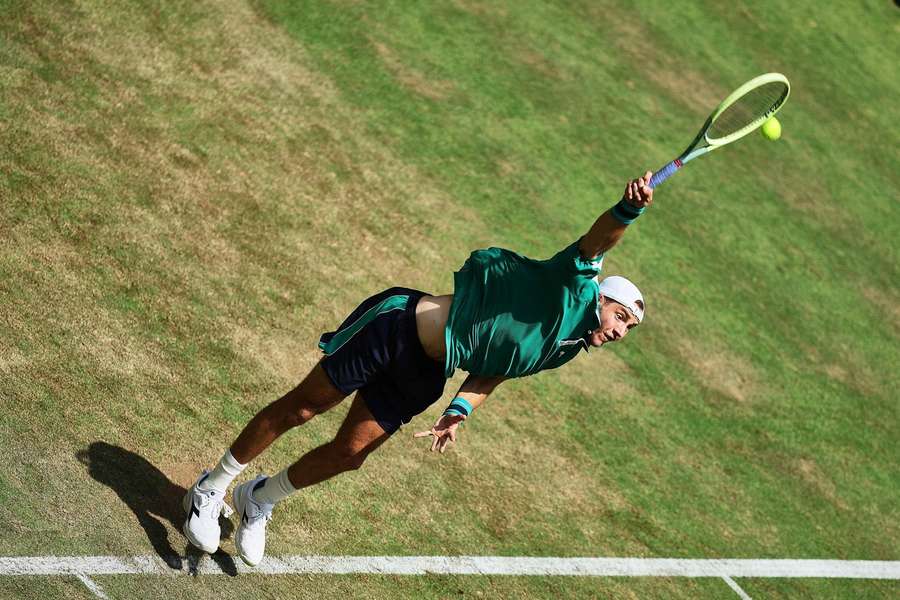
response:
<path id="1" fill-rule="evenodd" d="M 130 450 L 106 442 L 94 442 L 77 454 L 91 477 L 109 486 L 135 514 L 153 549 L 167 565 L 181 570 L 185 561 L 191 574 L 196 575 L 202 552 L 188 544 L 182 557 L 169 542 L 164 521 L 176 531 L 181 531 L 184 510 L 181 501 L 187 490 L 169 480 L 147 459 Z M 230 537 L 234 529 L 231 521 L 220 519 L 224 537 Z M 185 540 L 187 542 L 187 540 Z M 219 549 L 211 555 L 223 573 L 237 575 L 234 560 Z"/>

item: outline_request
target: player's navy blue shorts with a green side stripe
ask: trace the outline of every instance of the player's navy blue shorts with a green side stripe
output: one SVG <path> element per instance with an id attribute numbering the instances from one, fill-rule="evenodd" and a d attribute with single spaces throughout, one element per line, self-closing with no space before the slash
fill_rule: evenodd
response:
<path id="1" fill-rule="evenodd" d="M 416 304 L 425 292 L 391 288 L 365 300 L 337 331 L 322 335 L 322 367 L 344 394 L 359 390 L 387 433 L 444 393 L 444 365 L 425 354 Z"/>

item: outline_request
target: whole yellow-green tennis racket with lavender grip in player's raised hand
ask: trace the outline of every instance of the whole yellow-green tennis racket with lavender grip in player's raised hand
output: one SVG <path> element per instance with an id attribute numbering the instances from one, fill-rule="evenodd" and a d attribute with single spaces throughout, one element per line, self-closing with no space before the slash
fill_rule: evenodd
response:
<path id="1" fill-rule="evenodd" d="M 649 186 L 655 188 L 688 161 L 735 142 L 761 127 L 784 106 L 790 93 L 791 84 L 781 73 L 754 77 L 734 90 L 712 112 L 681 156 L 654 173 Z"/>

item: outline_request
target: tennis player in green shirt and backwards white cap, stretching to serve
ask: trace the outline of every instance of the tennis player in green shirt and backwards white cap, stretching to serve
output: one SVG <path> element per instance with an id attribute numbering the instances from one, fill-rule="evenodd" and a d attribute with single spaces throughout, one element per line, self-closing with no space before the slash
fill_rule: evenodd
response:
<path id="1" fill-rule="evenodd" d="M 357 392 L 334 439 L 280 473 L 235 488 L 235 546 L 250 565 L 262 560 L 272 508 L 295 491 L 358 469 L 366 457 L 440 399 L 456 369 L 469 375 L 444 414 L 416 437 L 444 452 L 505 379 L 555 369 L 582 350 L 624 338 L 644 317 L 644 300 L 624 277 L 599 279 L 603 255 L 653 199 L 651 173 L 630 181 L 622 200 L 578 241 L 548 260 L 501 248 L 473 252 L 454 276 L 454 293 L 391 288 L 360 304 L 322 335 L 325 356 L 293 390 L 263 408 L 212 471 L 184 498 L 188 540 L 219 547 L 219 515 L 229 485 L 287 430 Z"/>

